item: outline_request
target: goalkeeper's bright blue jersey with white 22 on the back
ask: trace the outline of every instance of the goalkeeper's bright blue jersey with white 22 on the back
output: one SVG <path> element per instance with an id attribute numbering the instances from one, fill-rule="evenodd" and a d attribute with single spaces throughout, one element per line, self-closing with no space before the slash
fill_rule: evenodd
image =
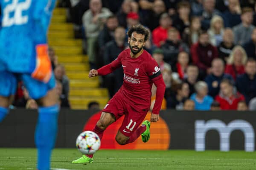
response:
<path id="1" fill-rule="evenodd" d="M 47 43 L 55 0 L 0 0 L 0 71 L 31 73 L 35 46 Z"/>

